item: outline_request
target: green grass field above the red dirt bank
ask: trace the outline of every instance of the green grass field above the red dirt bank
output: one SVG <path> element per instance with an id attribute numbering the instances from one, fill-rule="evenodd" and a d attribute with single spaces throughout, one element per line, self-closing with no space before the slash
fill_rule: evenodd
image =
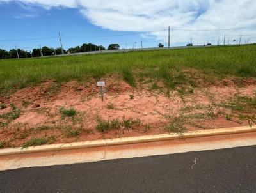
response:
<path id="1" fill-rule="evenodd" d="M 163 81 L 168 88 L 192 84 L 191 68 L 211 77 L 256 77 L 256 45 L 152 50 L 118 54 L 64 56 L 0 61 L 0 90 L 33 86 L 48 79 L 67 82 L 118 74 L 131 86 L 144 79 Z M 187 73 L 184 72 L 187 70 Z"/>

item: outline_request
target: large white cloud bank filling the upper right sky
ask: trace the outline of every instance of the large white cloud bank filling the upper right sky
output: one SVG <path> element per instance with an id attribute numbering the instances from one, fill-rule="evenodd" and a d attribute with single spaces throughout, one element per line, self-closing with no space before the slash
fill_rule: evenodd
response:
<path id="1" fill-rule="evenodd" d="M 8 2 L 13 0 L 0 0 Z M 92 24 L 117 31 L 156 31 L 166 29 L 227 29 L 251 27 L 234 31 L 172 31 L 172 43 L 190 40 L 203 42 L 239 34 L 255 34 L 255 0 L 18 0 L 46 9 L 77 8 Z M 166 31 L 152 33 L 159 41 L 167 41 Z M 234 36 L 236 35 L 236 36 Z M 212 41 L 211 41 L 212 42 Z M 214 42 L 214 43 L 215 43 Z"/>

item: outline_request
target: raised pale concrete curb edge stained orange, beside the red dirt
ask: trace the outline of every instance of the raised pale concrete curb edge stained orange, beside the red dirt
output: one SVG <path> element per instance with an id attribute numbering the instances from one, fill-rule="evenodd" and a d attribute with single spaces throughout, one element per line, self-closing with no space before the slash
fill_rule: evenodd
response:
<path id="1" fill-rule="evenodd" d="M 186 132 L 182 135 L 182 138 L 191 137 L 207 137 L 214 135 L 228 135 L 228 134 L 241 134 L 247 132 L 256 132 L 256 125 L 249 127 L 231 127 L 231 128 L 218 128 L 209 130 L 199 130 L 193 132 Z M 50 144 L 43 146 L 34 146 L 29 148 L 8 148 L 0 150 L 0 156 L 6 155 L 19 155 L 24 153 L 41 153 L 48 151 L 60 151 L 60 150 L 74 150 L 81 148 L 92 148 L 100 146 L 112 146 L 121 144 L 133 144 L 133 143 L 145 143 L 153 141 L 167 141 L 171 139 L 179 139 L 180 135 L 176 133 L 171 134 L 159 134 L 159 135 L 144 135 L 139 137 L 121 137 L 115 139 L 100 139 L 93 141 L 83 141 L 76 143 L 63 143 L 63 144 Z"/>

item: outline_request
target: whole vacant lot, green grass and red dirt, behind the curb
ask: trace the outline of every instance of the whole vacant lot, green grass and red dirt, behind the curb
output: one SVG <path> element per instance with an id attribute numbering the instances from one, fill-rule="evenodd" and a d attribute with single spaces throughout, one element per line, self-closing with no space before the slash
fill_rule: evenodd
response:
<path id="1" fill-rule="evenodd" d="M 0 61 L 0 148 L 252 125 L 255 56 L 246 45 Z"/>

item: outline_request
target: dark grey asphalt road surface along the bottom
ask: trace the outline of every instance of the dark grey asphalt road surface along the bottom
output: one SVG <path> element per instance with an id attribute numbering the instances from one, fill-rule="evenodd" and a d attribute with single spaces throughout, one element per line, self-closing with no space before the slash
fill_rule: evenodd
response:
<path id="1" fill-rule="evenodd" d="M 256 192 L 256 146 L 2 171 L 0 192 Z"/>

